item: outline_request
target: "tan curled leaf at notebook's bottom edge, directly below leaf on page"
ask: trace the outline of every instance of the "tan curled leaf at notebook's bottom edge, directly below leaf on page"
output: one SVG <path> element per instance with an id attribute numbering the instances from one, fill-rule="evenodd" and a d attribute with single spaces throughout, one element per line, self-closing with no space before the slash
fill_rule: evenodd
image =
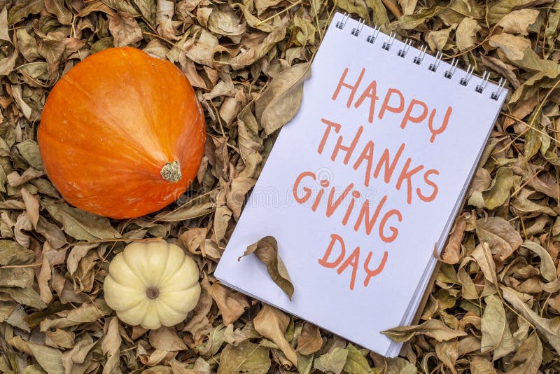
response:
<path id="1" fill-rule="evenodd" d="M 290 318 L 286 316 L 286 314 L 283 314 L 283 312 L 267 304 L 262 306 L 260 312 L 258 312 L 255 319 L 253 319 L 255 330 L 258 331 L 260 335 L 276 343 L 282 352 L 286 354 L 286 358 L 294 365 L 297 365 L 297 353 L 295 353 L 295 350 L 293 350 L 284 336 L 289 323 Z"/>

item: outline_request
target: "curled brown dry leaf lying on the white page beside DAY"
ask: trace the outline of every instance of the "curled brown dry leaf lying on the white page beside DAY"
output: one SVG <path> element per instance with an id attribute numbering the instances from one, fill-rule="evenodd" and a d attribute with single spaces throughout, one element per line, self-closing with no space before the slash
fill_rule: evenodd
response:
<path id="1" fill-rule="evenodd" d="M 255 254 L 262 263 L 267 265 L 267 272 L 274 283 L 276 283 L 291 300 L 294 288 L 290 280 L 290 275 L 288 274 L 288 269 L 286 269 L 286 265 L 284 265 L 278 253 L 278 243 L 276 239 L 272 236 L 263 237 L 258 242 L 248 246 L 247 250 L 243 256 L 239 257 L 238 261 L 241 261 L 241 258 L 248 254 Z"/>

